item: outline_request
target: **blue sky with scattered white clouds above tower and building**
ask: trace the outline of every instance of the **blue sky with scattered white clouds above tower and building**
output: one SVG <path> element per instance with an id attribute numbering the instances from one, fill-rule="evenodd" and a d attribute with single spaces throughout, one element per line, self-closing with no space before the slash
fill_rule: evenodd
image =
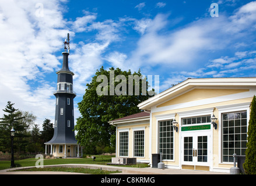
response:
<path id="1" fill-rule="evenodd" d="M 211 17 L 212 3 L 219 16 Z M 0 108 L 7 101 L 54 120 L 63 41 L 77 103 L 104 66 L 159 75 L 164 91 L 187 78 L 252 77 L 256 1 L 31 0 L 0 2 Z M 3 112 L 0 110 L 0 115 Z"/>

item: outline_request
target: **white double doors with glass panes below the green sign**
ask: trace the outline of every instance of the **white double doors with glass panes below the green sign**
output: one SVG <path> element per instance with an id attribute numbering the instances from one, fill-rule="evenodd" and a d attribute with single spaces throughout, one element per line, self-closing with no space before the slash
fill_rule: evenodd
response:
<path id="1" fill-rule="evenodd" d="M 209 133 L 185 133 L 181 138 L 181 163 L 209 166 L 211 157 L 211 135 Z"/>

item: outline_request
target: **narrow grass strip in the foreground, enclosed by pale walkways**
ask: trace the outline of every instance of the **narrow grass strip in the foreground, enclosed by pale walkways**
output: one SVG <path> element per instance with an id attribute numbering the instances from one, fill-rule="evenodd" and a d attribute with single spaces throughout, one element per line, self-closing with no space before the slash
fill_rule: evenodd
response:
<path id="1" fill-rule="evenodd" d="M 62 172 L 71 172 L 71 173 L 83 173 L 83 174 L 113 174 L 121 173 L 121 171 L 108 171 L 100 169 L 85 169 L 85 168 L 67 168 L 67 167 L 47 167 L 43 169 L 31 168 L 31 169 L 22 169 L 14 171 L 62 171 Z"/>

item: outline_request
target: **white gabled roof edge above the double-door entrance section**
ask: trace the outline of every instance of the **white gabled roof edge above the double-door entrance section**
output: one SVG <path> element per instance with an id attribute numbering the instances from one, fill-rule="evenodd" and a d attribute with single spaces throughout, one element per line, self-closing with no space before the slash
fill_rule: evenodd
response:
<path id="1" fill-rule="evenodd" d="M 173 87 L 160 92 L 138 104 L 139 109 L 150 110 L 152 106 L 167 101 L 193 87 L 255 87 L 256 77 L 224 77 L 224 78 L 188 78 Z"/>

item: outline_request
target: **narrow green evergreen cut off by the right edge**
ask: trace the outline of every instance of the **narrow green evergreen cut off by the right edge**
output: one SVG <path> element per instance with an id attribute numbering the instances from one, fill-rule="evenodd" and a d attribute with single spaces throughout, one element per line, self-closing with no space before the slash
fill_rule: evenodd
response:
<path id="1" fill-rule="evenodd" d="M 248 126 L 246 161 L 243 164 L 247 174 L 256 174 L 256 98 L 251 102 L 250 120 Z"/>

